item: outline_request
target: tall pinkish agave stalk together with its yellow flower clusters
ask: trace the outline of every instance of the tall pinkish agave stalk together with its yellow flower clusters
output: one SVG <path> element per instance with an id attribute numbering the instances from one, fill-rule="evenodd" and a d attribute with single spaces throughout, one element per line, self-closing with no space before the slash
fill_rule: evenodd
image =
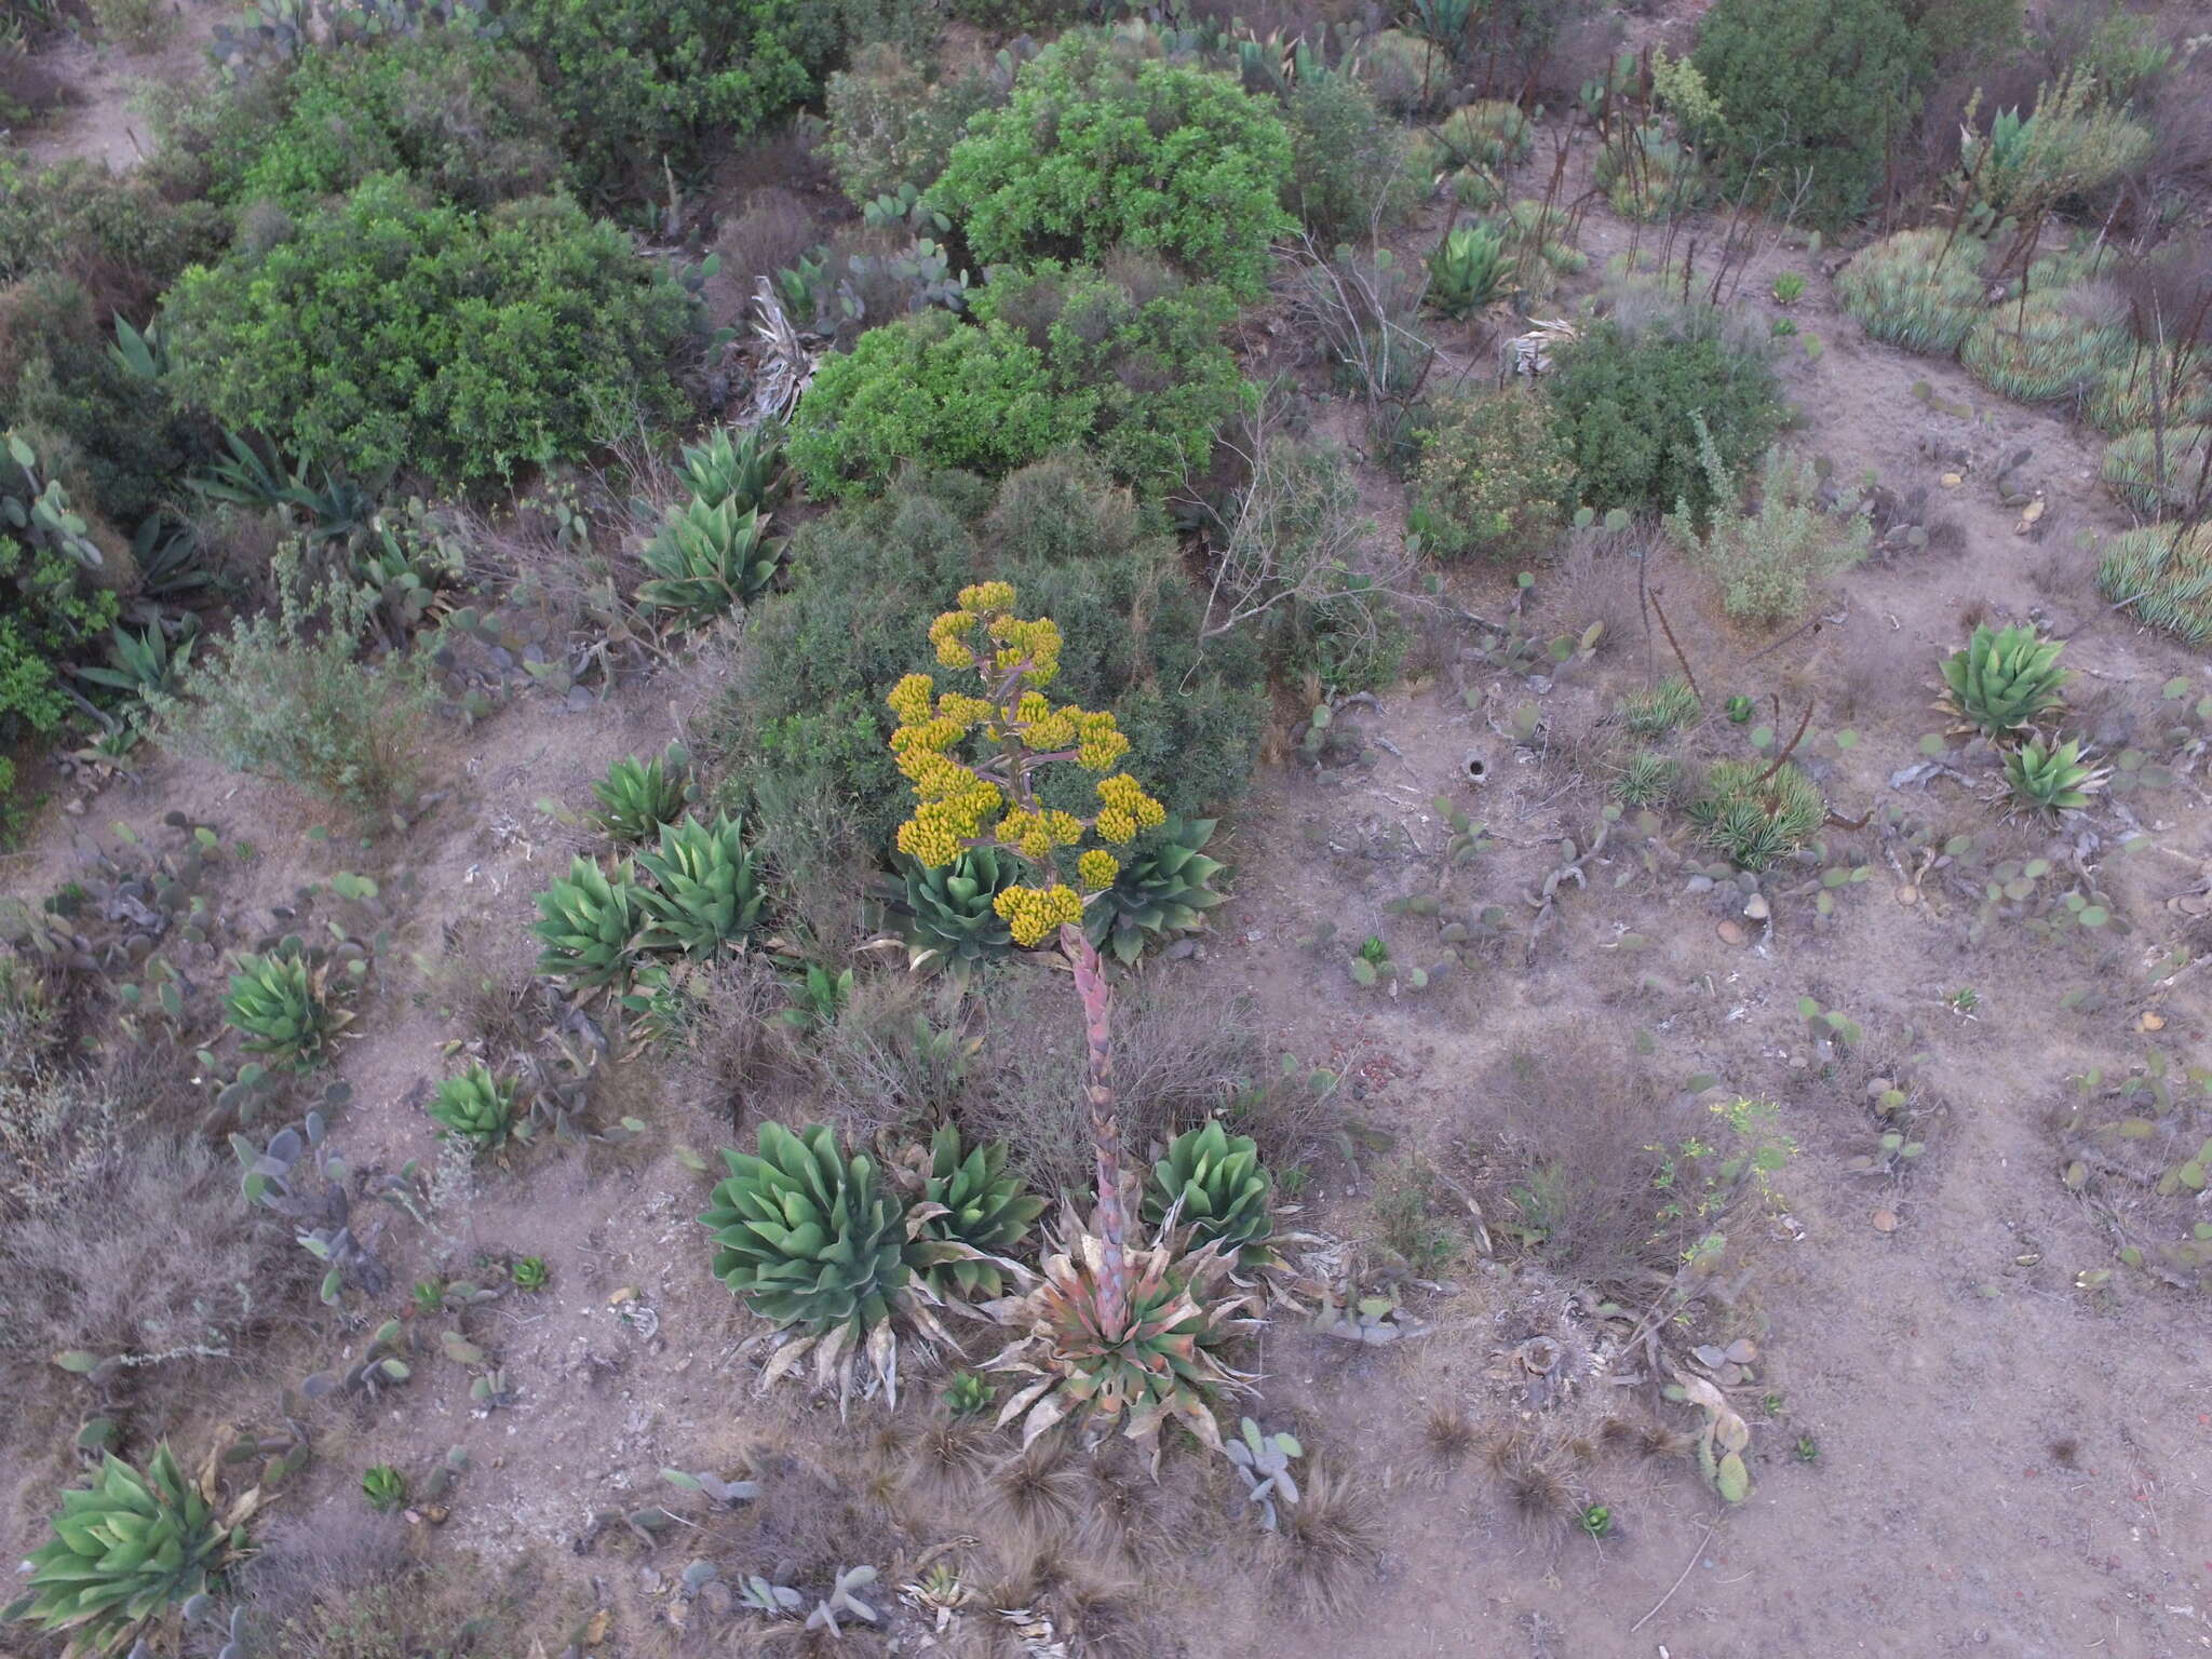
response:
<path id="1" fill-rule="evenodd" d="M 1166 823 L 1168 812 L 1115 763 L 1128 739 L 1108 712 L 1053 703 L 1044 688 L 1060 672 L 1060 628 L 1051 617 L 1013 613 L 1009 582 L 978 582 L 960 591 L 960 608 L 929 624 L 938 664 L 973 670 L 982 695 L 938 692 L 929 675 L 907 675 L 891 688 L 898 714 L 891 752 L 914 785 L 914 816 L 898 827 L 898 849 L 925 869 L 953 863 L 967 847 L 995 847 L 1035 872 L 1035 883 L 1013 883 L 993 909 L 1013 942 L 1035 949 L 1057 929 L 1060 949 L 1075 969 L 1084 1011 L 1091 1141 L 1097 1157 L 1095 1318 L 1102 1332 L 1130 1329 L 1135 1290 L 1128 1263 L 1128 1190 L 1121 1128 L 1113 1093 L 1113 998 L 1097 947 L 1084 933 L 1084 900 L 1062 880 L 1073 860 L 1086 891 L 1113 887 L 1121 860 L 1106 845 L 1126 847 L 1139 830 Z M 973 752 L 978 759 L 964 759 Z M 1037 801 L 1037 774 L 1073 763 L 1097 772 L 1097 812 L 1079 818 Z"/>

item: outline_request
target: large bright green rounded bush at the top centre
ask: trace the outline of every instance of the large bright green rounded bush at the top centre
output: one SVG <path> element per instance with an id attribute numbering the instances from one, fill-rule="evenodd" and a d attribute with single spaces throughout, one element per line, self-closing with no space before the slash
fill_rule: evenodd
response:
<path id="1" fill-rule="evenodd" d="M 1292 146 L 1228 75 L 1133 35 L 1062 35 L 978 113 L 931 190 L 984 261 L 1155 252 L 1239 296 L 1261 292 Z"/>

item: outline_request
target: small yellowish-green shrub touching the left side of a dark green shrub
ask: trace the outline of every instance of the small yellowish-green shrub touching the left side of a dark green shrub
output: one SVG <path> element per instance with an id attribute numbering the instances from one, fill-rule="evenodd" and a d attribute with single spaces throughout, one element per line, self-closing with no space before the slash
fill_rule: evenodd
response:
<path id="1" fill-rule="evenodd" d="M 1551 400 L 1506 389 L 1444 407 L 1420 434 L 1407 524 L 1425 551 L 1520 560 L 1544 549 L 1575 498 L 1575 456 Z"/>

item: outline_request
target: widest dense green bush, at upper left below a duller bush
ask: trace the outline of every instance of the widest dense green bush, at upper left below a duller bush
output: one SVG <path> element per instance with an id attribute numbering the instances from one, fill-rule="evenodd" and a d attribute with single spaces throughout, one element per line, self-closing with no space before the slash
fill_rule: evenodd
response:
<path id="1" fill-rule="evenodd" d="M 378 175 L 272 248 L 184 274 L 175 387 L 226 427 L 356 473 L 504 478 L 595 420 L 677 405 L 692 303 L 562 197 L 476 215 Z"/>

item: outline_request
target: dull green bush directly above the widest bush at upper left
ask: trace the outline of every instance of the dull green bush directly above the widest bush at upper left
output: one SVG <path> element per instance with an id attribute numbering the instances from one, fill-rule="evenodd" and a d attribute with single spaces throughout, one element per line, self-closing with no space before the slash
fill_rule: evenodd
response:
<path id="1" fill-rule="evenodd" d="M 489 208 L 560 181 L 560 124 L 531 60 L 465 29 L 312 51 L 276 102 L 279 119 L 212 157 L 215 199 L 299 210 L 405 173 L 438 199 Z"/>

